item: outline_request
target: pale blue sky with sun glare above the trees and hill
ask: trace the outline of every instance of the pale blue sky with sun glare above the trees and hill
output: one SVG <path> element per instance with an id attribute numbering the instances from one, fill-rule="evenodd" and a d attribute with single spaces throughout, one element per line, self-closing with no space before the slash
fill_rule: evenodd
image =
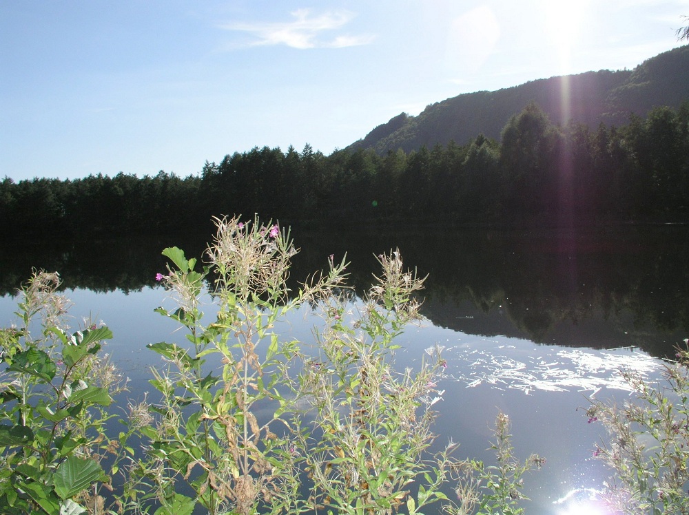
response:
<path id="1" fill-rule="evenodd" d="M 466 92 L 633 68 L 686 1 L 0 0 L 0 178 L 330 154 Z M 464 143 L 464 142 L 458 142 Z"/>

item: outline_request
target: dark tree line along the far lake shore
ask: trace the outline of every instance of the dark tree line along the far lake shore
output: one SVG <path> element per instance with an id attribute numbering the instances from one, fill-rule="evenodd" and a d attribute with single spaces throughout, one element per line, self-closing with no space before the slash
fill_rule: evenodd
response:
<path id="1" fill-rule="evenodd" d="M 621 127 L 554 125 L 535 103 L 500 141 L 405 153 L 255 147 L 181 178 L 102 174 L 0 182 L 3 235 L 205 229 L 212 216 L 282 222 L 689 222 L 689 102 Z"/>

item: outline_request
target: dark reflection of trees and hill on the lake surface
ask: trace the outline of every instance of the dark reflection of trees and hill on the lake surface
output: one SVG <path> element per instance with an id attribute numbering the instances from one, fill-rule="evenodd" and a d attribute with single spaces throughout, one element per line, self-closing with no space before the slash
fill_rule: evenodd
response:
<path id="1" fill-rule="evenodd" d="M 294 231 L 302 251 L 292 280 L 347 253 L 361 293 L 376 271 L 374 255 L 399 247 L 408 266 L 429 274 L 422 313 L 433 324 L 473 335 L 538 344 L 635 346 L 672 356 L 689 334 L 689 228 L 613 227 L 570 231 L 366 229 Z M 161 250 L 201 255 L 205 240 L 21 242 L 0 249 L 0 295 L 14 292 L 32 267 L 59 271 L 66 288 L 125 293 L 154 286 Z"/>

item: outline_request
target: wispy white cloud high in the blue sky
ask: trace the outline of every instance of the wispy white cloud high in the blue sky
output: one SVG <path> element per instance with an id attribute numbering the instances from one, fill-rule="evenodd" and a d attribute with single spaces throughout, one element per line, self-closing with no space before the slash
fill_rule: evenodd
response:
<path id="1" fill-rule="evenodd" d="M 309 9 L 299 9 L 290 13 L 294 20 L 274 23 L 225 23 L 220 28 L 239 32 L 248 32 L 256 37 L 256 41 L 249 43 L 258 45 L 287 45 L 291 48 L 305 50 L 308 48 L 345 48 L 357 45 L 367 45 L 373 41 L 373 36 L 351 36 L 342 34 L 334 39 L 321 39 L 324 31 L 338 30 L 354 15 L 351 12 L 324 12 L 311 14 Z"/>

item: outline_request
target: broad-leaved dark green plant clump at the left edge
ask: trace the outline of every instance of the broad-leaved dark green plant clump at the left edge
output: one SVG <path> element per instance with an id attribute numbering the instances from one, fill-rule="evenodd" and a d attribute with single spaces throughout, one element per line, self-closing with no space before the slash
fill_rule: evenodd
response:
<path id="1" fill-rule="evenodd" d="M 130 432 L 110 439 L 105 431 L 107 407 L 125 386 L 101 353 L 112 332 L 88 322 L 69 334 L 59 282 L 56 273 L 34 273 L 20 292 L 21 325 L 0 330 L 3 513 L 97 512 L 104 501 L 99 485 L 110 487 L 117 463 L 133 452 Z"/>

